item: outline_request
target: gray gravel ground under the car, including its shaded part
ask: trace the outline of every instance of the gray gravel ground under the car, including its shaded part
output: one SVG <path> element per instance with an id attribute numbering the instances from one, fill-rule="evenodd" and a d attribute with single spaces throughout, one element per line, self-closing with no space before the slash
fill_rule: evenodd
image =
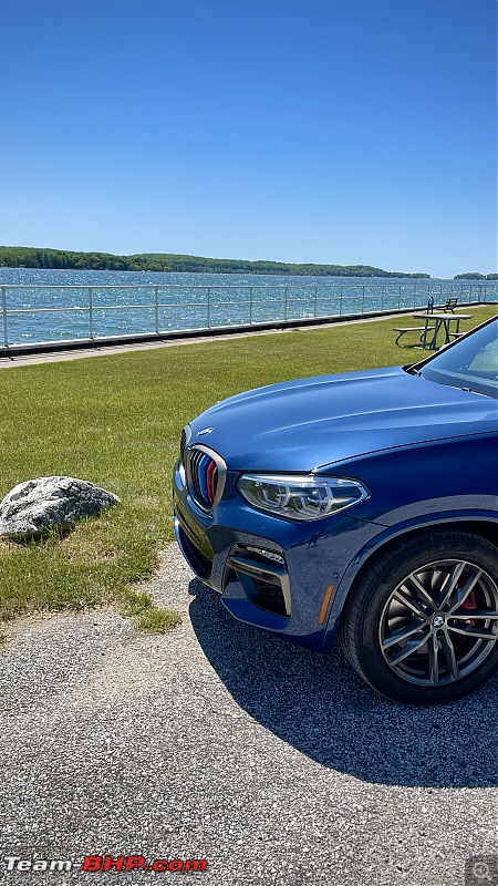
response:
<path id="1" fill-rule="evenodd" d="M 151 590 L 183 615 L 165 636 L 107 610 L 9 630 L 0 883 L 464 886 L 465 859 L 481 856 L 490 867 L 467 884 L 498 882 L 497 680 L 404 708 L 339 650 L 235 621 L 175 546 Z M 208 870 L 82 874 L 90 854 Z M 10 856 L 76 864 L 10 873 Z"/>

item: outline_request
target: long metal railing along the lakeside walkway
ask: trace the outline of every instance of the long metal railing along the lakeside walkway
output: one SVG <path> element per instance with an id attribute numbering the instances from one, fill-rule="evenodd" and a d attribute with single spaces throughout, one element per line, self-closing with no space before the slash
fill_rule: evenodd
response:
<path id="1" fill-rule="evenodd" d="M 224 327 L 261 326 L 286 321 L 347 317 L 362 313 L 409 311 L 424 308 L 429 298 L 444 303 L 458 297 L 459 303 L 488 302 L 497 299 L 496 282 L 453 282 L 404 280 L 386 284 L 347 284 L 300 286 L 292 284 L 256 286 L 29 286 L 3 284 L 1 289 L 1 328 L 3 347 L 56 341 L 98 342 L 108 338 L 141 334 L 209 330 Z M 125 303 L 111 298 L 112 292 Z M 129 292 L 131 299 L 127 298 Z M 187 300 L 189 293 L 201 298 Z M 48 293 L 48 299 L 43 299 Z M 66 295 L 66 302 L 55 303 Z M 230 298 L 231 295 L 231 298 Z M 104 298 L 105 296 L 105 298 Z M 135 298 L 134 298 L 135 296 Z M 147 300 L 141 300 L 147 296 Z M 174 296 L 175 300 L 167 300 Z M 185 296 L 185 298 L 184 298 Z M 222 296 L 222 297 L 220 297 Z M 46 305 L 44 301 L 51 303 Z M 68 300 L 70 303 L 68 303 Z M 34 301 L 34 305 L 31 303 Z M 30 303 L 28 303 L 30 302 Z M 41 307 L 37 307 L 40 305 Z M 110 321 L 106 313 L 124 312 L 126 322 Z M 146 321 L 144 323 L 144 312 Z M 229 315 L 227 317 L 227 313 Z M 48 320 L 68 317 L 53 329 Z M 28 323 L 34 317 L 34 322 Z M 40 317 L 40 319 L 38 319 Z M 73 319 L 74 318 L 74 319 Z M 76 318 L 81 318 L 81 321 Z M 76 332 L 71 337 L 71 332 Z M 46 338 L 46 334 L 51 336 Z M 44 336 L 44 337 L 43 337 Z M 55 336 L 55 337 L 54 337 Z M 1 344 L 0 344 L 1 347 Z"/>

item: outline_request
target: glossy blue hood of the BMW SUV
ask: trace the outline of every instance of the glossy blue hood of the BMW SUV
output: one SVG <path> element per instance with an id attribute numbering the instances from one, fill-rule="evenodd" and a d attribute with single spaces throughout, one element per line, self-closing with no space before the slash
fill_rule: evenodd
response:
<path id="1" fill-rule="evenodd" d="M 229 470 L 309 472 L 378 450 L 496 431 L 497 403 L 395 367 L 258 388 L 217 403 L 190 427 L 190 444 L 215 450 Z"/>

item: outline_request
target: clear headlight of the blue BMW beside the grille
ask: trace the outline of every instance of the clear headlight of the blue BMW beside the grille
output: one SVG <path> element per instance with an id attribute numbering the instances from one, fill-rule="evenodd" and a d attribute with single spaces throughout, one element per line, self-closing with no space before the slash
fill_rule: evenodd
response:
<path id="1" fill-rule="evenodd" d="M 292 519 L 319 519 L 369 497 L 357 480 L 286 474 L 242 474 L 238 487 L 253 507 Z"/>

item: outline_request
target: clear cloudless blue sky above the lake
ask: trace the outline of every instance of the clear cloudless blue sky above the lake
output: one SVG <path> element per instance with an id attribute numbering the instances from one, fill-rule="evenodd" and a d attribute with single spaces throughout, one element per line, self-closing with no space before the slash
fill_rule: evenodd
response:
<path id="1" fill-rule="evenodd" d="M 3 0 L 0 243 L 496 270 L 495 0 Z"/>

